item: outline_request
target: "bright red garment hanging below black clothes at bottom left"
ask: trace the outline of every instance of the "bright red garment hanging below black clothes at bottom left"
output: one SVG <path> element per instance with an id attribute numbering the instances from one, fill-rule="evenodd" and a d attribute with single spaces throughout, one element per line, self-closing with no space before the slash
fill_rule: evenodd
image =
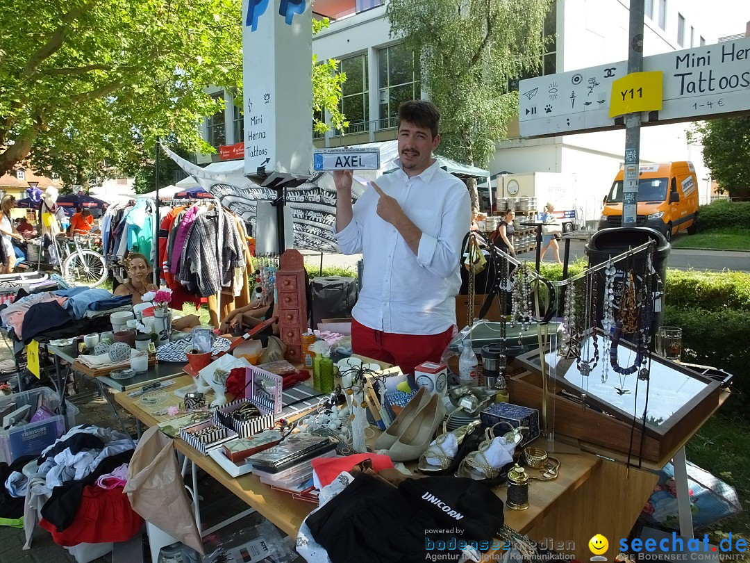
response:
<path id="1" fill-rule="evenodd" d="M 76 519 L 70 527 L 57 531 L 45 519 L 39 525 L 52 534 L 55 543 L 70 547 L 79 543 L 127 541 L 139 531 L 143 519 L 130 507 L 121 486 L 101 489 L 89 485 L 83 489 Z"/>

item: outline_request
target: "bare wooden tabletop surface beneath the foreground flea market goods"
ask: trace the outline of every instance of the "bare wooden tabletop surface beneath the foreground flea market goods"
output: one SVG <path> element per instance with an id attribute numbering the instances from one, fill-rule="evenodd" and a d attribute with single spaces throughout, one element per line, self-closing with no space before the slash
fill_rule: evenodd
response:
<path id="1" fill-rule="evenodd" d="M 189 385 L 192 381 L 190 376 L 184 375 L 175 378 L 175 384 L 171 387 L 165 387 L 164 390 L 171 393 L 175 389 Z M 114 393 L 114 397 L 119 405 L 146 426 L 153 426 L 168 419 L 168 417 L 154 417 L 144 411 L 137 402 L 137 398 L 129 397 L 127 393 Z M 259 513 L 293 537 L 296 536 L 302 520 L 315 507 L 314 504 L 296 500 L 285 492 L 272 489 L 271 486 L 261 483 L 260 479 L 253 474 L 240 477 L 229 476 L 213 459 L 202 456 L 180 438 L 175 438 L 174 444 L 178 451 L 184 453 L 226 489 L 229 489 L 230 492 L 233 492 L 234 495 L 254 507 Z M 534 445 L 544 448 L 544 442 L 541 440 Z M 562 451 L 558 451 L 558 448 Z M 563 444 L 557 444 L 555 449 L 555 453 L 550 453 L 550 455 L 556 456 L 560 461 L 559 477 L 556 480 L 544 483 L 532 481 L 529 486 L 529 508 L 527 510 L 505 510 L 505 524 L 520 534 L 526 534 L 534 527 L 535 522 L 554 510 L 566 492 L 574 491 L 585 483 L 597 465 L 601 463 L 601 459 L 597 456 L 580 452 L 580 450 Z M 529 470 L 529 474 L 534 474 L 533 471 L 533 469 Z M 495 489 L 495 492 L 504 502 L 505 487 L 499 487 Z"/>

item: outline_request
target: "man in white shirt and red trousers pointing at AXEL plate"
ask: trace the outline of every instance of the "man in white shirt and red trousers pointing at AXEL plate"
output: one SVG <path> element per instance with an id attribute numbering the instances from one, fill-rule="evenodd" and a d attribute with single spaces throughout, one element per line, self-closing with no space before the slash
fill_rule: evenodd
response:
<path id="1" fill-rule="evenodd" d="M 336 238 L 362 252 L 362 291 L 352 311 L 352 350 L 401 366 L 438 361 L 455 330 L 461 242 L 469 191 L 432 158 L 440 112 L 429 101 L 398 108 L 398 170 L 371 182 L 352 205 L 352 171 L 334 173 Z"/>

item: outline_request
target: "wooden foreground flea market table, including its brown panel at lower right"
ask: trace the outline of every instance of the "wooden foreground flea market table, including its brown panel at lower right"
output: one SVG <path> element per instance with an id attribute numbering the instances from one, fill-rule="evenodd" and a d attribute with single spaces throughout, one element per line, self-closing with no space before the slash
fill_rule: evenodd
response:
<path id="1" fill-rule="evenodd" d="M 192 382 L 187 375 L 175 378 L 167 393 Z M 166 417 L 144 411 L 137 399 L 127 393 L 114 393 L 115 401 L 146 426 Z M 213 459 L 203 456 L 180 438 L 173 444 L 222 486 L 245 501 L 285 533 L 296 536 L 302 520 L 314 508 L 260 482 L 253 474 L 230 477 Z M 544 443 L 535 444 L 544 447 Z M 601 456 L 556 444 L 554 456 L 560 460 L 559 477 L 548 482 L 533 481 L 529 487 L 527 510 L 505 510 L 505 523 L 544 546 L 588 557 L 588 541 L 597 533 L 612 538 L 627 537 L 635 519 L 656 483 L 650 471 L 626 468 Z M 495 489 L 505 501 L 505 488 Z"/>

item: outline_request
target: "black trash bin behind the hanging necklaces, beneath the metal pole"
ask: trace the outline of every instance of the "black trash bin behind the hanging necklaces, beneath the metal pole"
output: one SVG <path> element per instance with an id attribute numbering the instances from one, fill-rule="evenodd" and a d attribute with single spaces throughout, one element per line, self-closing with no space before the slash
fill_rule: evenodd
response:
<path id="1" fill-rule="evenodd" d="M 651 344 L 649 348 L 653 349 L 655 344 L 654 335 L 656 329 L 661 327 L 664 318 L 664 279 L 667 275 L 667 256 L 671 245 L 664 238 L 664 235 L 658 230 L 647 227 L 619 227 L 615 229 L 602 229 L 593 234 L 586 244 L 586 256 L 589 257 L 591 266 L 596 266 L 606 262 L 610 257 L 616 257 L 618 254 L 628 251 L 628 248 L 636 248 L 643 245 L 649 240 L 656 241 L 656 248 L 653 256 L 653 266 L 658 274 L 658 278 L 652 278 L 651 291 L 654 296 L 655 312 L 653 324 L 651 327 Z M 627 260 L 619 260 L 614 264 L 617 272 L 615 274 L 615 300 L 614 314 L 615 318 L 619 315 L 619 295 L 622 291 L 622 281 L 625 279 L 625 268 L 632 269 L 635 278 L 635 293 L 640 295 L 640 284 L 642 283 L 641 275 L 646 266 L 646 252 L 634 254 Z M 596 276 L 598 283 L 598 294 L 604 296 L 604 283 L 606 274 L 604 270 L 599 270 Z M 599 299 L 596 304 L 597 325 L 601 329 L 601 319 L 603 318 L 604 300 Z M 634 334 L 623 335 L 623 338 L 631 341 Z"/>

